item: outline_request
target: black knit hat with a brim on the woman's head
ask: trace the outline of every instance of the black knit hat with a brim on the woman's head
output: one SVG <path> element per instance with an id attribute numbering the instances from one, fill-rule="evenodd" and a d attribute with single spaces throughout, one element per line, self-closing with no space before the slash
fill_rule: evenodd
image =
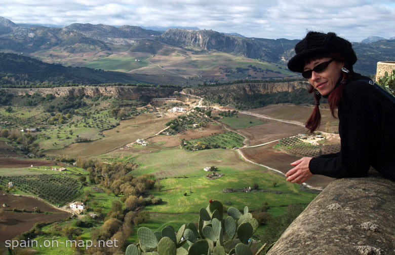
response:
<path id="1" fill-rule="evenodd" d="M 295 72 L 302 72 L 305 59 L 317 54 L 340 53 L 349 67 L 357 62 L 351 43 L 332 32 L 308 32 L 306 37 L 296 44 L 295 53 L 296 55 L 288 61 L 288 69 Z"/>

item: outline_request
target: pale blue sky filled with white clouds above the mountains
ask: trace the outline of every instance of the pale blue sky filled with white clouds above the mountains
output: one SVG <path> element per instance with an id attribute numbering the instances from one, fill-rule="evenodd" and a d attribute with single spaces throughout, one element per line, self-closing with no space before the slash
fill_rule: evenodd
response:
<path id="1" fill-rule="evenodd" d="M 392 0 L 0 0 L 14 23 L 198 27 L 246 37 L 301 39 L 307 30 L 360 42 L 395 37 Z"/>

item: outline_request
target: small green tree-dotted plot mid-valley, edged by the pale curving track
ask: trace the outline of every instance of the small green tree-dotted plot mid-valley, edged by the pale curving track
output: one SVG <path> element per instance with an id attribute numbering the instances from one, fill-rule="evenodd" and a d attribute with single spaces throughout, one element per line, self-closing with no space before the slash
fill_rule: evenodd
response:
<path id="1" fill-rule="evenodd" d="M 192 139 L 185 141 L 189 145 L 201 144 L 218 144 L 226 148 L 243 147 L 244 137 L 234 132 L 212 135 L 208 137 Z"/>

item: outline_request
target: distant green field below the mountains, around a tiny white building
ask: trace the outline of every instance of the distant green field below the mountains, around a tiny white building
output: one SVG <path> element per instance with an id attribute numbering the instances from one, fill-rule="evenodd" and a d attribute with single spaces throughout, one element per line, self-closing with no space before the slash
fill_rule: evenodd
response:
<path id="1" fill-rule="evenodd" d="M 139 59 L 140 61 L 136 61 L 136 59 L 137 58 L 130 56 L 111 55 L 92 61 L 85 66 L 89 68 L 103 69 L 108 71 L 128 72 L 130 70 L 138 69 L 148 65 L 147 61 L 144 61 L 142 59 Z"/>

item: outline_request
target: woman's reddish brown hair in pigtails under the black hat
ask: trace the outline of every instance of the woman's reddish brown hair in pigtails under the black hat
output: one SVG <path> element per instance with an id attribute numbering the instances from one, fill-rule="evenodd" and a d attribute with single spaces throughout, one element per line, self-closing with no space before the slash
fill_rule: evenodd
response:
<path id="1" fill-rule="evenodd" d="M 339 53 L 334 53 L 334 54 L 325 54 L 325 55 L 315 55 L 314 57 L 308 58 L 305 60 L 305 64 L 310 63 L 313 60 L 317 60 L 320 58 L 324 57 L 331 57 L 331 58 L 336 58 L 340 61 L 343 61 L 345 63 L 345 67 L 350 71 L 348 74 L 345 72 L 343 73 L 343 77 L 341 78 L 341 81 L 338 81 L 338 84 L 336 87 L 332 90 L 332 92 L 328 95 L 328 102 L 329 102 L 329 107 L 331 109 L 332 116 L 336 118 L 336 110 L 339 102 L 341 101 L 341 95 L 343 92 L 343 89 L 345 85 L 348 83 L 349 77 L 353 74 L 352 71 L 352 65 L 348 66 L 346 60 L 344 57 L 339 54 Z M 314 91 L 314 87 L 310 85 L 310 88 L 308 90 L 308 93 L 312 93 Z M 315 94 L 314 95 L 314 100 L 315 100 L 315 106 L 314 110 L 311 113 L 310 117 L 308 118 L 305 127 L 312 133 L 317 128 L 320 127 L 321 124 L 321 113 L 320 113 L 320 99 L 321 99 L 321 94 Z"/>

